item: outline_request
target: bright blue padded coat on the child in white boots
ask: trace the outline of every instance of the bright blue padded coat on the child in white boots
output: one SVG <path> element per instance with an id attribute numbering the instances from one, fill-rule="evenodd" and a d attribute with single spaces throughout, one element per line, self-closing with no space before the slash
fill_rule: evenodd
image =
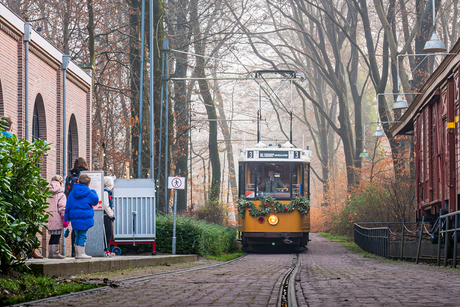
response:
<path id="1" fill-rule="evenodd" d="M 96 191 L 81 183 L 74 184 L 67 198 L 65 221 L 70 221 L 73 229 L 88 230 L 94 226 L 93 206 L 98 202 Z"/>

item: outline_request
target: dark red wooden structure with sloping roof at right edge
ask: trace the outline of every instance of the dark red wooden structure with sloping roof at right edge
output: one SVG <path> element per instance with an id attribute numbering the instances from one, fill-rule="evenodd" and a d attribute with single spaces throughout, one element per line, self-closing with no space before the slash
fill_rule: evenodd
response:
<path id="1" fill-rule="evenodd" d="M 414 135 L 417 218 L 459 210 L 460 40 L 418 91 L 392 134 Z"/>

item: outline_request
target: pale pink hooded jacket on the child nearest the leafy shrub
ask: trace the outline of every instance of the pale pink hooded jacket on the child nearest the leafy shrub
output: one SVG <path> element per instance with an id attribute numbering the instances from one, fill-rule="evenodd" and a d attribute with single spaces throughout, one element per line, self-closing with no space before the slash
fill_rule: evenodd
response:
<path id="1" fill-rule="evenodd" d="M 49 207 L 46 212 L 48 217 L 48 230 L 62 229 L 62 217 L 65 213 L 66 197 L 64 195 L 64 188 L 59 181 L 51 181 L 49 189 L 52 198 L 48 198 Z"/>

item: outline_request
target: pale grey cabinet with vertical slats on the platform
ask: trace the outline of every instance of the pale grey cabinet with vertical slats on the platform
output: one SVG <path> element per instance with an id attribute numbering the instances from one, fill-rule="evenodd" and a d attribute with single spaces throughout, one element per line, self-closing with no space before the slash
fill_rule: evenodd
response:
<path id="1" fill-rule="evenodd" d="M 117 179 L 113 189 L 113 240 L 151 244 L 156 237 L 155 180 Z"/>

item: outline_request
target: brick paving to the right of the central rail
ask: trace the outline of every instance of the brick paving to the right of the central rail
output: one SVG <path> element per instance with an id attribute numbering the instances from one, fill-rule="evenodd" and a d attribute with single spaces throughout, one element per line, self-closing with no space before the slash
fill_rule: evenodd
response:
<path id="1" fill-rule="evenodd" d="M 299 306 L 460 306 L 460 272 L 364 258 L 312 234 L 296 285 Z"/>

